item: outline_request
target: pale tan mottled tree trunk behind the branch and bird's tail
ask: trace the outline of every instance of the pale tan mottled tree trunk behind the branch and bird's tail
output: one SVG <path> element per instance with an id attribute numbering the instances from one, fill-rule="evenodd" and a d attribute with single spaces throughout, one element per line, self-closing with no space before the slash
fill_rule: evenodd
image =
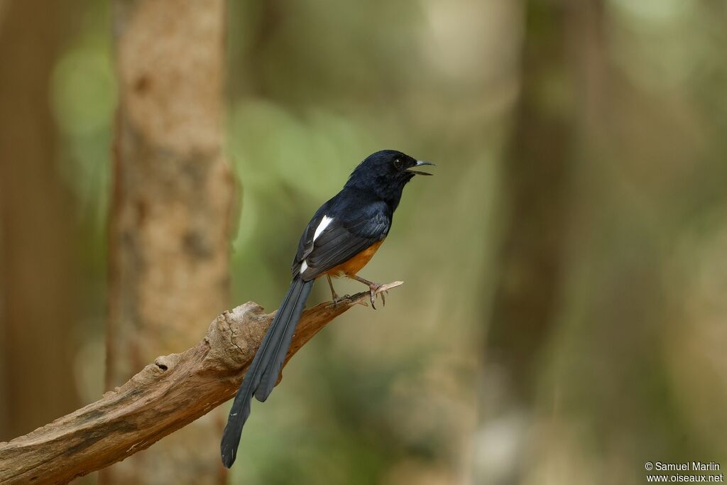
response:
<path id="1" fill-rule="evenodd" d="M 107 386 L 196 342 L 225 310 L 233 177 L 222 158 L 224 0 L 113 2 L 119 113 Z M 169 324 L 173 321 L 173 324 Z M 224 483 L 211 412 L 102 473 L 106 484 Z"/>

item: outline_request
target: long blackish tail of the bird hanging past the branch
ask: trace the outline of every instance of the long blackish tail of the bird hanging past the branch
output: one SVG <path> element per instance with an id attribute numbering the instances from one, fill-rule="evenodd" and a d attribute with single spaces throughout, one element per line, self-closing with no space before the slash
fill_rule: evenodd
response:
<path id="1" fill-rule="evenodd" d="M 254 395 L 258 401 L 265 401 L 275 387 L 281 367 L 288 353 L 290 342 L 295 333 L 300 314 L 303 312 L 305 300 L 308 300 L 313 281 L 302 281 L 296 276 L 278 308 L 268 333 L 260 343 L 255 357 L 252 359 L 245 378 L 237 391 L 235 401 L 225 430 L 222 432 L 222 465 L 230 468 L 235 462 L 237 447 L 240 444 L 242 427 L 250 415 L 250 401 Z"/>

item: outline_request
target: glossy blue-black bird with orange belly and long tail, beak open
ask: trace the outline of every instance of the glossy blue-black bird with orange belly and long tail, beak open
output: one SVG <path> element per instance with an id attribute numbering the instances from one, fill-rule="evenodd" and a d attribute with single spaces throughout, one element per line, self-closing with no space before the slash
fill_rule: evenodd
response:
<path id="1" fill-rule="evenodd" d="M 424 165 L 434 164 L 401 151 L 372 153 L 305 227 L 293 258 L 288 292 L 247 369 L 222 432 L 220 452 L 226 468 L 235 462 L 253 396 L 264 402 L 276 385 L 313 282 L 326 276 L 336 305 L 339 298 L 331 277 L 360 281 L 369 286 L 371 307 L 376 309 L 377 290 L 382 285 L 358 276 L 358 272 L 386 239 L 404 185 L 416 175 L 432 175 L 416 169 Z"/>

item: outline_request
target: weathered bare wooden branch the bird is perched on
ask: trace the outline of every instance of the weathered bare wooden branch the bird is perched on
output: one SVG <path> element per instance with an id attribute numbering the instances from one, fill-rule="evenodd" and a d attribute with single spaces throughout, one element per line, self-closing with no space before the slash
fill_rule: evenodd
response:
<path id="1" fill-rule="evenodd" d="M 287 359 L 329 321 L 368 301 L 364 292 L 335 307 L 325 302 L 305 310 Z M 68 483 L 148 448 L 224 403 L 236 393 L 273 315 L 254 302 L 225 311 L 193 348 L 158 357 L 99 401 L 0 443 L 0 484 Z"/>

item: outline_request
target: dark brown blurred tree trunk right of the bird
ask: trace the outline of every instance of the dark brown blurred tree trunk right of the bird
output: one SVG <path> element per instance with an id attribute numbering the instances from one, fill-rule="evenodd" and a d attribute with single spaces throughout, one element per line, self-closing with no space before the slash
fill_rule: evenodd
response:
<path id="1" fill-rule="evenodd" d="M 484 361 L 485 379 L 503 394 L 483 406 L 482 426 L 517 422 L 513 433 L 520 433 L 507 460 L 512 468 L 494 479 L 502 484 L 521 483 L 536 382 L 561 310 L 574 159 L 583 121 L 595 115 L 585 108 L 593 92 L 579 76 L 598 76 L 584 52 L 594 48 L 587 36 L 601 32 L 601 0 L 528 0 L 524 7 L 521 95 L 503 170 L 508 212 Z"/>

